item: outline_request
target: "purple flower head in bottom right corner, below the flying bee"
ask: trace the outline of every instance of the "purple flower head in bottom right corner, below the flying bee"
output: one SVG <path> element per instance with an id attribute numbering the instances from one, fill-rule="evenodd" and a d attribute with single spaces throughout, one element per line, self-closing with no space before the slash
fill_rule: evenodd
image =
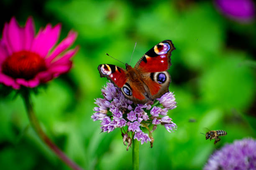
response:
<path id="1" fill-rule="evenodd" d="M 211 155 L 204 170 L 255 170 L 256 140 L 245 138 L 227 144 Z"/>

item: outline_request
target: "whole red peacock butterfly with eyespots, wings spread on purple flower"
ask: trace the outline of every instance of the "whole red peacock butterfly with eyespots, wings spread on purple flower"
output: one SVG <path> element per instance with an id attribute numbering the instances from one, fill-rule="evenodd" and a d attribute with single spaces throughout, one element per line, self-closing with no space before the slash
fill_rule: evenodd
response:
<path id="1" fill-rule="evenodd" d="M 169 92 L 171 76 L 167 70 L 172 65 L 173 50 L 175 47 L 172 41 L 164 40 L 146 52 L 134 68 L 127 63 L 126 70 L 111 64 L 99 65 L 100 77 L 107 77 L 135 104 L 154 101 Z"/>

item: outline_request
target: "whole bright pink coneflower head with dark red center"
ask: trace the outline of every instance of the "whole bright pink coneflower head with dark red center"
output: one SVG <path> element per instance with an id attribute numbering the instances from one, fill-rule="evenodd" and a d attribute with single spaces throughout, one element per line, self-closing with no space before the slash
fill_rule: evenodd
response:
<path id="1" fill-rule="evenodd" d="M 20 89 L 21 85 L 33 88 L 68 72 L 72 67 L 70 58 L 78 47 L 65 50 L 73 44 L 77 33 L 70 31 L 53 48 L 59 40 L 60 30 L 60 24 L 54 27 L 48 24 L 35 36 L 31 17 L 25 27 L 20 27 L 14 17 L 10 23 L 5 23 L 0 40 L 0 83 L 14 89 Z"/>

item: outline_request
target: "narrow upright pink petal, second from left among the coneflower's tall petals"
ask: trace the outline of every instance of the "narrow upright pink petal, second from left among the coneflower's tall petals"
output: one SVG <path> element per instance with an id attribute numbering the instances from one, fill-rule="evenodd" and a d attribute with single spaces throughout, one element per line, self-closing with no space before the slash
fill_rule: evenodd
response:
<path id="1" fill-rule="evenodd" d="M 31 44 L 33 42 L 33 38 L 35 35 L 34 22 L 32 17 L 29 17 L 24 28 L 24 49 L 30 50 Z"/>

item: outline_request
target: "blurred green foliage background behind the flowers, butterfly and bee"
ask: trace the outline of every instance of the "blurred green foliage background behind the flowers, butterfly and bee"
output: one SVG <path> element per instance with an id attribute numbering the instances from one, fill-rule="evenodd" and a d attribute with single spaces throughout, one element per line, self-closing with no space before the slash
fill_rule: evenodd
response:
<path id="1" fill-rule="evenodd" d="M 33 96 L 34 109 L 46 134 L 86 170 L 130 170 L 120 130 L 100 133 L 90 119 L 107 82 L 97 66 L 129 62 L 151 47 L 173 41 L 169 72 L 178 107 L 169 111 L 178 130 L 159 126 L 154 147 L 140 145 L 140 169 L 202 169 L 209 156 L 225 143 L 256 137 L 256 24 L 239 24 L 216 10 L 212 1 L 174 0 L 55 0 L 1 3 L 3 24 L 15 16 L 24 25 L 33 16 L 36 30 L 62 23 L 60 40 L 73 29 L 80 50 L 67 75 L 48 83 Z M 254 57 L 254 58 L 253 58 Z M 210 130 L 228 135 L 216 145 L 205 140 Z M 41 142 L 28 122 L 23 100 L 14 93 L 0 100 L 0 169 L 69 169 Z"/>

